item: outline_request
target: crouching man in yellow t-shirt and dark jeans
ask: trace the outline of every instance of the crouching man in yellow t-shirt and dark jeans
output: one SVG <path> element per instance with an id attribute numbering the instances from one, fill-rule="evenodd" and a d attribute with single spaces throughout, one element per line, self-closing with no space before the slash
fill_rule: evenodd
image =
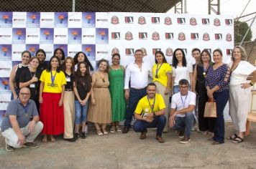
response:
<path id="1" fill-rule="evenodd" d="M 145 139 L 147 128 L 157 127 L 156 140 L 165 143 L 162 132 L 165 127 L 165 102 L 162 95 L 156 94 L 155 83 L 147 84 L 147 95 L 142 97 L 136 107 L 133 129 L 135 132 L 142 132 L 140 139 Z"/>

